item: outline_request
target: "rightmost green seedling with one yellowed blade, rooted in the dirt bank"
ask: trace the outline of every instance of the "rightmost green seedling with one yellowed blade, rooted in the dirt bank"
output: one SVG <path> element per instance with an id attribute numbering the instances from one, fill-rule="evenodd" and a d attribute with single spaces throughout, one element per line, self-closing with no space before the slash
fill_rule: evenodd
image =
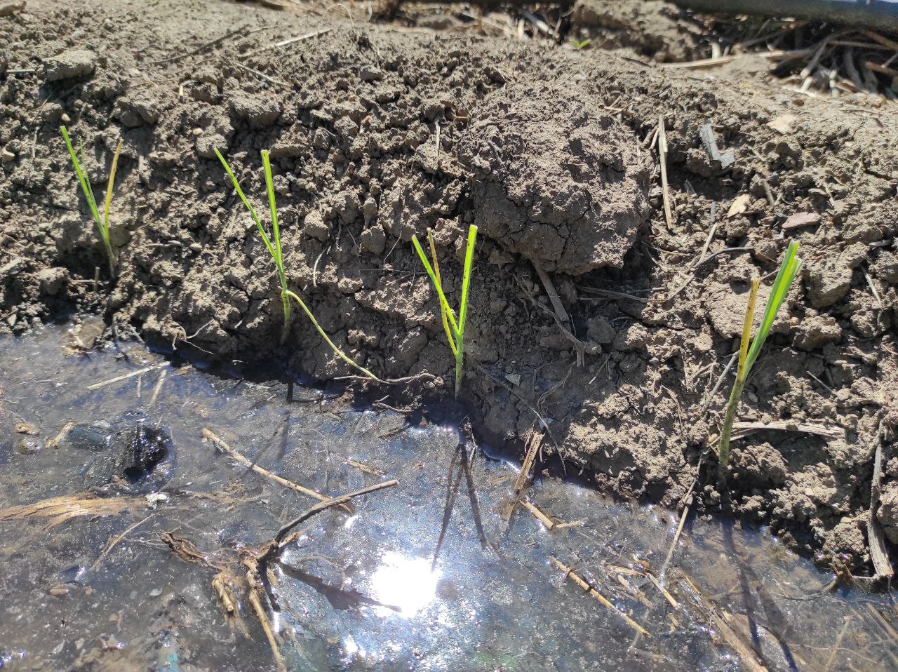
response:
<path id="1" fill-rule="evenodd" d="M 752 323 L 754 319 L 754 299 L 758 294 L 758 286 L 761 279 L 752 280 L 752 289 L 748 295 L 748 307 L 745 309 L 745 319 L 742 326 L 742 342 L 739 346 L 739 366 L 736 369 L 735 384 L 733 391 L 730 393 L 729 402 L 726 404 L 726 415 L 724 416 L 724 426 L 720 431 L 720 449 L 718 451 L 718 491 L 722 491 L 726 485 L 726 464 L 729 462 L 729 442 L 730 434 L 733 431 L 733 421 L 735 420 L 735 411 L 739 406 L 739 397 L 745 386 L 745 379 L 754 366 L 761 349 L 764 347 L 764 341 L 770 334 L 770 327 L 779 313 L 779 306 L 788 295 L 788 289 L 792 285 L 792 280 L 798 270 L 801 268 L 801 260 L 797 258 L 798 243 L 792 241 L 789 243 L 786 256 L 783 257 L 782 263 L 779 265 L 779 273 L 773 281 L 773 287 L 770 288 L 770 297 L 767 299 L 767 305 L 764 307 L 764 314 L 761 318 L 761 325 L 758 327 L 758 333 L 752 340 L 751 347 L 749 340 L 752 337 Z"/>

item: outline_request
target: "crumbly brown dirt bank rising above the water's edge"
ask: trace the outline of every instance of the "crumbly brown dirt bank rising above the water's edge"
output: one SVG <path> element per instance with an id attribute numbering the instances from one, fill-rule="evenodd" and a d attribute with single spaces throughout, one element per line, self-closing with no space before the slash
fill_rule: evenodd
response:
<path id="1" fill-rule="evenodd" d="M 462 401 L 480 436 L 520 445 L 544 426 L 545 449 L 605 491 L 675 506 L 698 478 L 697 508 L 715 510 L 709 448 L 732 378 L 711 391 L 737 348 L 749 280 L 769 285 L 794 237 L 805 265 L 739 420 L 843 434 L 735 440 L 735 510 L 821 561 L 865 565 L 882 427 L 878 517 L 898 539 L 894 103 L 321 13 L 30 0 L 0 18 L 0 329 L 87 310 L 121 337 L 347 375 L 301 315 L 280 345 L 272 265 L 213 152 L 265 213 L 259 153 L 270 148 L 289 282 L 357 361 L 446 381 L 409 397 L 451 395 L 453 358 L 409 241 L 433 229 L 457 303 L 463 232 L 478 224 Z M 659 114 L 670 225 L 651 144 Z M 63 120 L 84 140 L 98 198 L 124 142 L 114 281 Z M 709 156 L 703 124 L 732 165 Z M 712 211 L 706 256 L 719 253 L 693 267 Z M 806 213 L 819 217 L 790 219 Z"/>

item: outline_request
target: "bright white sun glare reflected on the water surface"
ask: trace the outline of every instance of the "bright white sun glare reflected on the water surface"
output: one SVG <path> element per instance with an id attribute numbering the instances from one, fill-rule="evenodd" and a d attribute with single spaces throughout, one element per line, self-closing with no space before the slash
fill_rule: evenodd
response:
<path id="1" fill-rule="evenodd" d="M 409 558 L 388 551 L 371 576 L 372 597 L 384 605 L 399 607 L 399 614 L 410 618 L 436 596 L 440 570 L 431 570 L 427 558 Z M 392 609 L 377 607 L 381 615 L 395 614 Z"/>

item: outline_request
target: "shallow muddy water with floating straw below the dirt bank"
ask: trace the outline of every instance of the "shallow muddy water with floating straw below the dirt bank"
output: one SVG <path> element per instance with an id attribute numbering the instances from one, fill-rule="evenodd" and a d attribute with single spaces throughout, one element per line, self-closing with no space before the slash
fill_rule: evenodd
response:
<path id="1" fill-rule="evenodd" d="M 249 638 L 225 623 L 212 579 L 317 500 L 222 455 L 204 429 L 330 496 L 399 480 L 353 500 L 351 515 L 330 509 L 298 526 L 272 564 L 286 668 L 898 667 L 888 596 L 823 589 L 831 574 L 763 531 L 693 519 L 662 575 L 674 514 L 550 476 L 527 495 L 561 525 L 549 531 L 518 507 L 503 531 L 516 466 L 480 450 L 472 476 L 495 550 L 481 547 L 460 479 L 434 567 L 454 429 L 409 428 L 313 389 L 287 402 L 284 384 L 175 367 L 137 346 L 66 354 L 68 329 L 0 340 L 0 668 L 274 668 L 246 596 Z M 135 413 L 171 428 L 167 480 L 110 485 L 92 462 L 104 448 L 71 436 L 47 447 L 66 423 L 127 426 Z M 3 521 L 11 507 L 91 489 L 100 496 L 80 503 L 90 510 L 68 498 Z"/>

